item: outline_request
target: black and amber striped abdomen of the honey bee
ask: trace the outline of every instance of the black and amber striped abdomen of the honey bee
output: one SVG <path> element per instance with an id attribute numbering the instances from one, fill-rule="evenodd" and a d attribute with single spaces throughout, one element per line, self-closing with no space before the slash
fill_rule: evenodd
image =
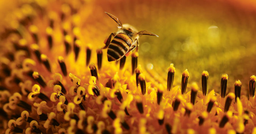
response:
<path id="1" fill-rule="evenodd" d="M 129 36 L 124 33 L 116 34 L 108 46 L 108 61 L 116 61 L 122 58 L 131 45 L 132 39 Z"/>

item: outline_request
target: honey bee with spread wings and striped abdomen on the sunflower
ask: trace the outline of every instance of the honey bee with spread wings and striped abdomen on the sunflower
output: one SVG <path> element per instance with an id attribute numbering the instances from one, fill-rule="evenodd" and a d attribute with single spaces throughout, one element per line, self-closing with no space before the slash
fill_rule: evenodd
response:
<path id="1" fill-rule="evenodd" d="M 118 31 L 116 33 L 111 33 L 110 36 L 105 40 L 105 47 L 107 49 L 108 61 L 116 61 L 123 56 L 129 56 L 134 48 L 137 47 L 138 51 L 139 42 L 138 39 L 142 35 L 157 36 L 149 31 L 139 31 L 129 25 L 123 24 L 121 21 L 110 13 L 105 12 L 109 17 L 111 17 L 118 25 Z M 158 36 L 157 36 L 158 37 Z"/>

